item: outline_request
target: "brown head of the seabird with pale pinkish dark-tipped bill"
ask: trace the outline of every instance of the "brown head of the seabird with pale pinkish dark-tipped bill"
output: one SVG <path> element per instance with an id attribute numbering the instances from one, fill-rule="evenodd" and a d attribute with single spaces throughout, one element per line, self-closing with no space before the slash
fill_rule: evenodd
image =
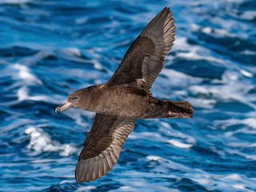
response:
<path id="1" fill-rule="evenodd" d="M 82 103 L 82 100 L 85 98 L 84 92 L 84 89 L 74 91 L 74 93 L 70 94 L 70 96 L 67 98 L 67 101 L 62 106 L 58 106 L 55 109 L 55 113 L 57 114 L 58 112 L 66 110 L 70 107 L 79 107 Z"/>

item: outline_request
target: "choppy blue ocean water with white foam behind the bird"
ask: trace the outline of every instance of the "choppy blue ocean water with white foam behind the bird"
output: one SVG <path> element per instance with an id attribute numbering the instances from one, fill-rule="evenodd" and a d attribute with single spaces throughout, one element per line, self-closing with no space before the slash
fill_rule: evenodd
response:
<path id="1" fill-rule="evenodd" d="M 138 120 L 114 170 L 77 183 L 94 114 L 55 114 L 68 94 L 106 82 L 163 7 L 176 40 L 155 97 L 191 119 Z M 0 0 L 0 191 L 256 191 L 253 0 Z"/>

